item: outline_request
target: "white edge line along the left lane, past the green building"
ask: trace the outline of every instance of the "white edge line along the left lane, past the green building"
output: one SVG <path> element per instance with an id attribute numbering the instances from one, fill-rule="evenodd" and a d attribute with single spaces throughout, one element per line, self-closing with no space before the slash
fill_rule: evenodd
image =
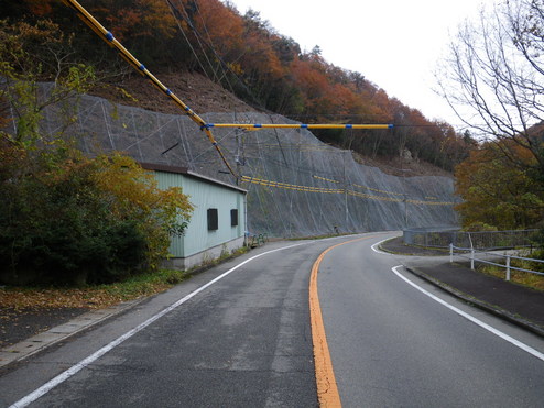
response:
<path id="1" fill-rule="evenodd" d="M 166 309 L 164 309 L 164 310 L 160 311 L 159 313 L 156 313 L 155 316 L 149 318 L 143 323 L 137 326 L 134 329 L 132 329 L 132 330 L 128 331 L 127 333 L 122 334 L 121 337 L 117 338 L 116 340 L 113 340 L 109 344 L 105 345 L 104 348 L 101 348 L 97 352 L 95 352 L 91 355 L 89 355 L 87 359 L 81 360 L 79 363 L 73 365 L 72 367 L 69 367 L 65 372 L 58 374 L 53 379 L 50 379 L 47 383 L 45 383 L 44 385 L 42 385 L 40 388 L 35 389 L 34 392 L 32 392 L 28 396 L 21 398 L 17 403 L 12 404 L 9 408 L 22 408 L 22 407 L 26 407 L 29 404 L 34 403 L 36 399 L 39 399 L 43 395 L 47 394 L 51 389 L 55 388 L 57 385 L 64 383 L 66 379 L 68 379 L 69 377 L 74 376 L 75 374 L 77 374 L 79 371 L 81 371 L 83 368 L 85 368 L 89 364 L 93 364 L 95 361 L 97 361 L 98 359 L 100 359 L 107 352 L 111 351 L 113 348 L 116 348 L 119 344 L 121 344 L 123 341 L 130 339 L 131 337 L 133 337 L 138 332 L 142 331 L 143 329 L 145 329 L 148 326 L 150 326 L 154 321 L 156 321 L 160 318 L 162 318 L 164 315 L 171 312 L 175 308 L 177 308 L 181 305 L 185 304 L 187 300 L 189 300 L 191 298 L 195 297 L 200 291 L 207 289 L 211 285 L 214 285 L 217 282 L 221 280 L 224 277 L 230 275 L 232 272 L 235 272 L 239 267 L 246 265 L 247 263 L 249 263 L 249 262 L 251 262 L 253 260 L 257 260 L 258 257 L 261 257 L 263 255 L 271 254 L 273 252 L 284 251 L 284 250 L 289 250 L 289 249 L 292 249 L 292 247 L 295 247 L 295 246 L 301 246 L 301 245 L 307 245 L 307 244 L 313 243 L 313 242 L 315 242 L 315 241 L 303 242 L 303 243 L 298 243 L 298 244 L 294 244 L 294 245 L 289 245 L 289 246 L 282 246 L 282 247 L 279 247 L 279 249 L 275 249 L 275 250 L 272 250 L 272 251 L 263 252 L 262 254 L 255 255 L 253 257 L 250 257 L 249 260 L 243 261 L 242 263 L 240 263 L 240 264 L 236 265 L 235 267 L 230 268 L 229 271 L 222 273 L 221 275 L 219 275 L 215 279 L 208 282 L 206 285 L 200 286 L 198 289 L 194 290 L 193 293 L 188 294 L 184 298 L 182 298 L 182 299 L 177 300 L 176 302 L 172 304 Z"/>

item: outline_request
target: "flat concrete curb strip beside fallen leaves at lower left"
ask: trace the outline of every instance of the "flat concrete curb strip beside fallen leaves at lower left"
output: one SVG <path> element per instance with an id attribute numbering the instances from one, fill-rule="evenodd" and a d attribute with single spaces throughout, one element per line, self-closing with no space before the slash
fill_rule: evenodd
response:
<path id="1" fill-rule="evenodd" d="M 17 344 L 8 345 L 0 350 L 0 368 L 28 359 L 31 355 L 34 355 L 74 334 L 118 316 L 146 299 L 146 297 L 143 297 L 135 300 L 124 301 L 106 309 L 93 310 L 68 321 L 67 323 L 59 324 Z"/>

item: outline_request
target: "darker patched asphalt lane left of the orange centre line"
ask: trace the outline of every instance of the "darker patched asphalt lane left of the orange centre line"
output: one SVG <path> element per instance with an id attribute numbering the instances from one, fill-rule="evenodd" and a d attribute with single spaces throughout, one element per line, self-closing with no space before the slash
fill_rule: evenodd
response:
<path id="1" fill-rule="evenodd" d="M 21 398 L 35 407 L 314 407 L 308 280 L 330 242 L 268 244 L 31 357 L 0 377 L 0 407 Z"/>

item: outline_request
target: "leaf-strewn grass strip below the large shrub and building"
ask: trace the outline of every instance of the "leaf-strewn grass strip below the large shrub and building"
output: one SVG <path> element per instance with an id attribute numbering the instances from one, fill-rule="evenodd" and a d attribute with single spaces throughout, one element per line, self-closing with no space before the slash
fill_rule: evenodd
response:
<path id="1" fill-rule="evenodd" d="M 248 249 L 222 253 L 217 260 L 188 271 L 159 269 L 135 275 L 127 280 L 77 288 L 0 287 L 0 308 L 88 308 L 102 309 L 122 301 L 152 296 L 170 289 L 192 275 L 239 256 Z"/>

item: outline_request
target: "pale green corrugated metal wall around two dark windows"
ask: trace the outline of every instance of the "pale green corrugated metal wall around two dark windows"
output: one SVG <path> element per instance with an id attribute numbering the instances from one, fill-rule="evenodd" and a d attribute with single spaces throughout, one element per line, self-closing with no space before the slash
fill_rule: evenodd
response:
<path id="1" fill-rule="evenodd" d="M 196 177 L 154 172 L 160 188 L 181 187 L 195 210 L 184 236 L 173 238 L 170 252 L 174 257 L 188 257 L 210 247 L 241 238 L 246 231 L 243 194 Z M 218 229 L 208 231 L 207 210 L 216 208 Z M 238 210 L 238 225 L 231 227 L 230 210 Z"/>

